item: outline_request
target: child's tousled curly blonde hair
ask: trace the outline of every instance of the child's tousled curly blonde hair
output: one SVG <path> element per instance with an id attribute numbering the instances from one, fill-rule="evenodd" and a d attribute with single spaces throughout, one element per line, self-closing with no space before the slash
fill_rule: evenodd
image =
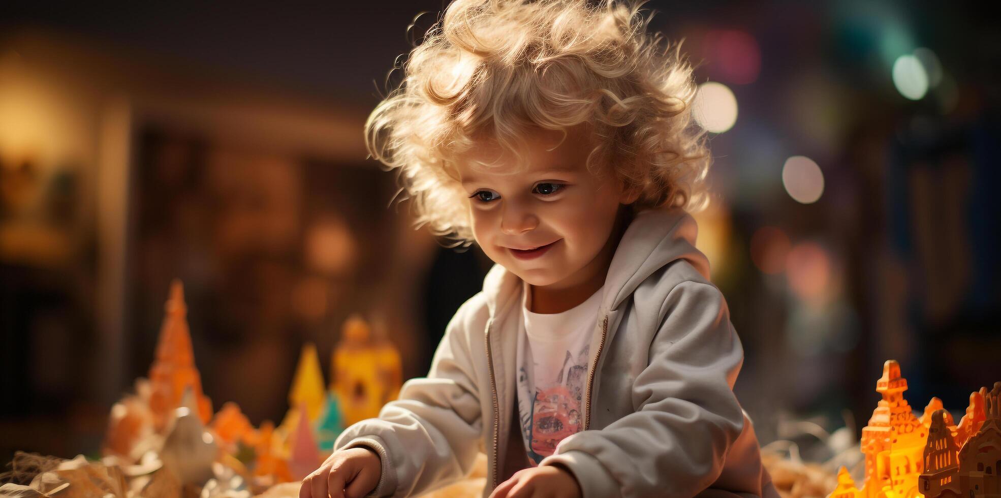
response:
<path id="1" fill-rule="evenodd" d="M 451 2 L 365 122 L 369 153 L 398 171 L 417 224 L 470 243 L 458 156 L 482 140 L 517 156 L 533 129 L 579 124 L 594 145 L 588 168 L 613 165 L 636 208 L 703 208 L 711 157 L 692 123 L 692 66 L 647 34 L 642 4 Z"/>

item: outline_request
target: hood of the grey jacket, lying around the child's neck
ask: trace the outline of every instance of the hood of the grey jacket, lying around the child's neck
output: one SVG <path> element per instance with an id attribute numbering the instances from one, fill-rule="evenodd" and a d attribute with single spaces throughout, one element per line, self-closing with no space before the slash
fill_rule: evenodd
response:
<path id="1" fill-rule="evenodd" d="M 682 208 L 634 214 L 612 257 L 603 308 L 617 310 L 643 281 L 678 260 L 687 261 L 708 281 L 709 260 L 695 247 L 697 234 L 695 218 Z M 500 265 L 490 269 L 483 279 L 483 295 L 491 317 L 510 306 L 521 285 L 522 280 Z"/>

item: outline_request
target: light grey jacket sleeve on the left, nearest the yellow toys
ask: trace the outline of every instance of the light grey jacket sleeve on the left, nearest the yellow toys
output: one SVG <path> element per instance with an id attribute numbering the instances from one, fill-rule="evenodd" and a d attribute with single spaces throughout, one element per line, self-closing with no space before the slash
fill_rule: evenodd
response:
<path id="1" fill-rule="evenodd" d="M 369 496 L 422 494 L 472 470 L 482 431 L 472 361 L 479 352 L 468 341 L 481 332 L 469 330 L 477 322 L 474 301 L 448 323 L 427 377 L 407 381 L 377 419 L 351 425 L 334 443 L 335 451 L 364 446 L 378 453 L 382 472 Z"/>

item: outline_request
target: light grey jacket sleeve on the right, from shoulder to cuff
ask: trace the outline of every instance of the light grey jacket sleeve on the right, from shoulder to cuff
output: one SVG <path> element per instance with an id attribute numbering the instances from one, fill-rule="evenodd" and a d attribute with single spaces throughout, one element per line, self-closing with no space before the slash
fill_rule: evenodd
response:
<path id="1" fill-rule="evenodd" d="M 723 472 L 744 428 L 733 393 L 744 353 L 722 294 L 684 282 L 663 310 L 649 364 L 632 387 L 636 411 L 568 437 L 541 462 L 570 470 L 585 498 L 695 496 Z"/>

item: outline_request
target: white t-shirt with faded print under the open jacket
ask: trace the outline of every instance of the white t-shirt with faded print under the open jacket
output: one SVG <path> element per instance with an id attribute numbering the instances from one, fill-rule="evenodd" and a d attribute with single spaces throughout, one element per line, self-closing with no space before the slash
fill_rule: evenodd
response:
<path id="1" fill-rule="evenodd" d="M 541 315 L 529 311 L 525 286 L 518 337 L 518 412 L 533 465 L 553 454 L 564 438 L 580 432 L 592 333 L 602 290 L 576 308 Z"/>

